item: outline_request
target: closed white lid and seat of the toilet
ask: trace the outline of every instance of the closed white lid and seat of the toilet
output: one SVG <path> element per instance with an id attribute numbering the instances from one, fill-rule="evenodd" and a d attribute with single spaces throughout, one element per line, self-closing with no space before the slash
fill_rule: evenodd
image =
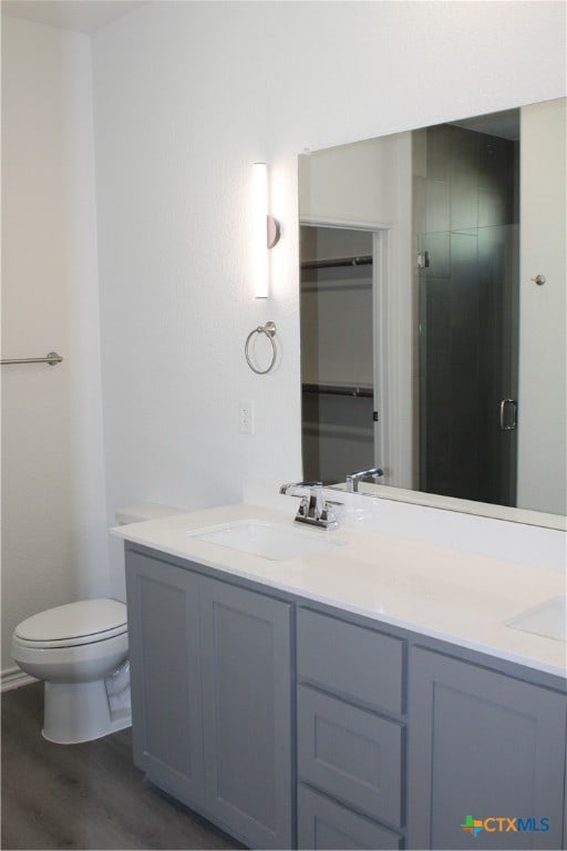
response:
<path id="1" fill-rule="evenodd" d="M 81 599 L 48 608 L 22 621 L 14 634 L 25 642 L 86 643 L 120 635 L 127 629 L 126 606 L 117 599 Z M 100 636 L 100 637 L 99 637 Z"/>

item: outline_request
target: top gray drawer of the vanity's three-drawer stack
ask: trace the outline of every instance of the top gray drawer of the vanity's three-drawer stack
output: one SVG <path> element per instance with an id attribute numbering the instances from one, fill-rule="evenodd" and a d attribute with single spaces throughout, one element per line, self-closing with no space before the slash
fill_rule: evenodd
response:
<path id="1" fill-rule="evenodd" d="M 365 627 L 298 611 L 298 676 L 379 711 L 401 715 L 404 642 Z"/>

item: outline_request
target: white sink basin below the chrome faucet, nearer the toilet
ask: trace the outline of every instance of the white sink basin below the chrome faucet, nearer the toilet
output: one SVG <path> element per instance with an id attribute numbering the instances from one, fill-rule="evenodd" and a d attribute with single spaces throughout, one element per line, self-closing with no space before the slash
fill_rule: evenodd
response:
<path id="1" fill-rule="evenodd" d="M 302 531 L 281 523 L 260 520 L 237 520 L 219 526 L 208 526 L 188 532 L 192 537 L 212 544 L 259 555 L 275 562 L 317 555 L 326 550 L 343 546 L 347 542 L 327 537 L 324 530 Z"/>

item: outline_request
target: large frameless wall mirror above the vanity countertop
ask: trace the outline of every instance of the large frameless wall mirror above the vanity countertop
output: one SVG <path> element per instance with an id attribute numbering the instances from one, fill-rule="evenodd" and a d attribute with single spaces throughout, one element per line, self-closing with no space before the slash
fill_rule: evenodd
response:
<path id="1" fill-rule="evenodd" d="M 308 480 L 565 527 L 566 99 L 299 157 Z"/>

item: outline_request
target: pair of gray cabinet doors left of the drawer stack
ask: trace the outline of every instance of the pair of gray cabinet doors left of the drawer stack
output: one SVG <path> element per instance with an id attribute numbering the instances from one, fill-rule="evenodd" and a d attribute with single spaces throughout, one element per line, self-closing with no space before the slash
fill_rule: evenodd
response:
<path id="1" fill-rule="evenodd" d="M 291 605 L 132 548 L 126 581 L 136 765 L 250 848 L 291 848 Z"/>

